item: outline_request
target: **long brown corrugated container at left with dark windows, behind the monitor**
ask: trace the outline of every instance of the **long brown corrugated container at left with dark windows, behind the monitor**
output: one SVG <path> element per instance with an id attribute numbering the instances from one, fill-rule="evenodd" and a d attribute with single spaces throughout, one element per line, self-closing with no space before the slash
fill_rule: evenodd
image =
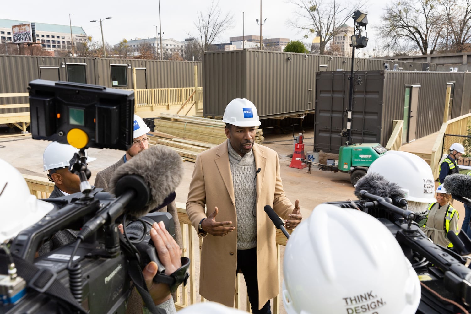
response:
<path id="1" fill-rule="evenodd" d="M 0 55 L 0 94 L 27 92 L 28 83 L 36 79 L 133 89 L 133 68 L 137 89 L 194 87 L 195 65 L 201 86 L 201 62 Z M 0 104 L 25 103 L 25 99 L 0 98 Z"/>

